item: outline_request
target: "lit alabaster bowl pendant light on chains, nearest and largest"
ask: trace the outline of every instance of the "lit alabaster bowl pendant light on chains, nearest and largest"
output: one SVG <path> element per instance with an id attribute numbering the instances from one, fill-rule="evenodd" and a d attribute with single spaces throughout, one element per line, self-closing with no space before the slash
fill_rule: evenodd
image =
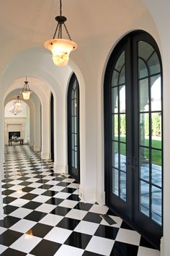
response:
<path id="1" fill-rule="evenodd" d="M 68 33 L 68 29 L 66 27 L 67 18 L 62 16 L 62 0 L 60 0 L 60 16 L 55 17 L 55 20 L 58 22 L 57 27 L 55 29 L 55 33 L 53 35 L 53 39 L 47 40 L 44 44 L 45 48 L 52 51 L 53 54 L 53 62 L 58 67 L 64 67 L 68 64 L 69 54 L 71 51 L 76 50 L 77 44 L 71 40 L 71 36 Z M 63 27 L 66 30 L 66 34 L 68 35 L 69 40 L 62 38 L 62 29 Z M 58 38 L 55 39 L 55 35 L 58 33 Z"/>

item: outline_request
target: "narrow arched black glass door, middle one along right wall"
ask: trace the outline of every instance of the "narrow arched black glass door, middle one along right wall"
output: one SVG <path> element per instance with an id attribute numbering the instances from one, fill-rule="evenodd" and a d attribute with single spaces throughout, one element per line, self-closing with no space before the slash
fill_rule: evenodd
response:
<path id="1" fill-rule="evenodd" d="M 80 182 L 79 82 L 73 73 L 68 85 L 68 173 Z"/>

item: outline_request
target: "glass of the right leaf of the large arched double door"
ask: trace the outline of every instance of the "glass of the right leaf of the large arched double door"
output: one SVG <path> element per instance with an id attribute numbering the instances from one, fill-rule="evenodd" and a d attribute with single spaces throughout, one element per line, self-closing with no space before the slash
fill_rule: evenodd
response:
<path id="1" fill-rule="evenodd" d="M 155 49 L 138 42 L 139 155 L 141 213 L 162 223 L 161 67 Z"/>

